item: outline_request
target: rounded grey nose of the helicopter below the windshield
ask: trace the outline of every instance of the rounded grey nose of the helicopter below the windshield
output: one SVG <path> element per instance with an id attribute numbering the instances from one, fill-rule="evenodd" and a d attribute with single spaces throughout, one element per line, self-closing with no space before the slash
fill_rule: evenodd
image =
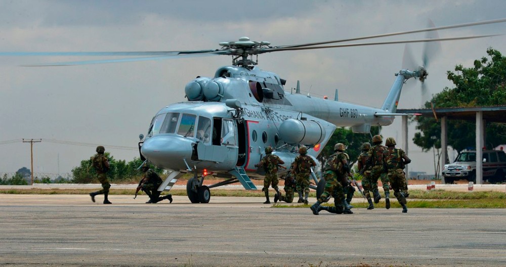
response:
<path id="1" fill-rule="evenodd" d="M 155 136 L 144 141 L 142 155 L 163 169 L 186 169 L 183 159 L 192 155 L 192 141 L 179 136 Z"/>

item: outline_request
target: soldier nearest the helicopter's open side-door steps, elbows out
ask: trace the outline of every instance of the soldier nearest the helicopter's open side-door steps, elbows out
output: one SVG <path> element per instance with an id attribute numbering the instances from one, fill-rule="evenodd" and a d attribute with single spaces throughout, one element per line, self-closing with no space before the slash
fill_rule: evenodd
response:
<path id="1" fill-rule="evenodd" d="M 257 164 L 255 167 L 263 166 L 265 170 L 265 178 L 264 178 L 264 188 L 262 191 L 265 193 L 266 201 L 264 204 L 270 204 L 269 200 L 269 185 L 272 186 L 274 190 L 276 190 L 276 195 L 274 196 L 274 202 L 277 202 L 281 193 L 279 193 L 278 188 L 278 165 L 284 164 L 284 161 L 281 160 L 278 156 L 272 154 L 272 147 L 265 148 L 265 157 Z"/>

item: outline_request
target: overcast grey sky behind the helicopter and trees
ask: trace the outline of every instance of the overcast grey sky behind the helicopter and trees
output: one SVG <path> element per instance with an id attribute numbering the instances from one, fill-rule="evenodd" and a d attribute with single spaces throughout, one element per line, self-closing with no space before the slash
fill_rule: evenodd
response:
<path id="1" fill-rule="evenodd" d="M 506 17 L 497 1 L 0 1 L 1 52 L 179 51 L 219 49 L 219 42 L 248 36 L 273 46 L 426 28 Z M 506 33 L 506 23 L 439 31 L 441 37 Z M 425 34 L 385 40 L 424 38 Z M 431 94 L 452 87 L 446 71 L 472 66 L 493 47 L 506 53 L 504 36 L 442 42 L 428 68 Z M 411 50 L 421 64 L 422 44 Z M 404 44 L 278 52 L 259 56 L 260 67 L 301 81 L 304 93 L 380 107 L 402 67 Z M 95 58 L 86 58 L 86 60 Z M 231 64 L 228 56 L 70 67 L 21 67 L 65 57 L 0 57 L 0 173 L 30 168 L 65 173 L 102 144 L 116 159 L 132 160 L 162 107 L 185 101 L 184 86 Z M 399 108 L 419 108 L 420 84 L 404 86 Z M 401 146 L 401 119 L 384 127 Z M 410 127 L 409 139 L 414 135 Z M 47 141 L 45 141 L 47 140 Z M 53 141 L 51 141 L 53 140 Z M 54 141 L 56 140 L 56 141 Z M 4 144 L 2 144 L 4 142 Z M 115 149 L 120 146 L 131 149 Z M 433 169 L 432 153 L 412 143 L 410 171 Z M 452 155 L 450 154 L 450 157 Z M 434 171 L 432 171 L 433 173 Z"/>

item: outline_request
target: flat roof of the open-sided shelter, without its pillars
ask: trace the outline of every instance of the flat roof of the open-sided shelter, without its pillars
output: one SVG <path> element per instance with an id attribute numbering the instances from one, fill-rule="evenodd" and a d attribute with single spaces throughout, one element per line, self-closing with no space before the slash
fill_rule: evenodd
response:
<path id="1" fill-rule="evenodd" d="M 447 117 L 448 119 L 476 120 L 476 112 L 483 112 L 483 119 L 487 122 L 506 123 L 506 105 L 504 106 L 483 106 L 483 107 L 453 107 L 433 109 L 398 109 L 398 113 L 420 113 L 421 116 L 437 118 Z"/>

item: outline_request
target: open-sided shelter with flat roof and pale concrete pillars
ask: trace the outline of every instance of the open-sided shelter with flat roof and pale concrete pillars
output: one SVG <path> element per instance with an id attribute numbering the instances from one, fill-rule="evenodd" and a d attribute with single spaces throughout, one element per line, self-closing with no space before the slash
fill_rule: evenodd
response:
<path id="1" fill-rule="evenodd" d="M 483 152 L 482 149 L 485 144 L 485 124 L 486 122 L 501 122 L 506 123 L 506 105 L 504 106 L 484 106 L 484 107 L 454 107 L 454 108 L 434 108 L 434 109 L 398 109 L 398 113 L 419 113 L 421 116 L 436 117 L 441 122 L 441 170 L 446 164 L 446 152 L 448 146 L 447 139 L 447 120 L 459 119 L 476 121 L 476 184 L 483 184 Z M 403 135 L 402 141 L 404 150 L 408 151 L 408 123 L 407 117 L 402 117 Z"/>

